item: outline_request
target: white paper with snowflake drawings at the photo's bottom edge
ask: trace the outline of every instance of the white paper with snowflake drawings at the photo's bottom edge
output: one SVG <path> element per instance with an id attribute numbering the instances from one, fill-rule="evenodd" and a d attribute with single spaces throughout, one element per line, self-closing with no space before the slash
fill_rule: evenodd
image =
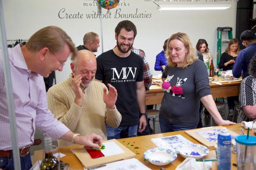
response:
<path id="1" fill-rule="evenodd" d="M 151 170 L 138 159 L 131 158 L 122 161 L 115 161 L 103 167 L 90 168 L 88 170 Z"/>

